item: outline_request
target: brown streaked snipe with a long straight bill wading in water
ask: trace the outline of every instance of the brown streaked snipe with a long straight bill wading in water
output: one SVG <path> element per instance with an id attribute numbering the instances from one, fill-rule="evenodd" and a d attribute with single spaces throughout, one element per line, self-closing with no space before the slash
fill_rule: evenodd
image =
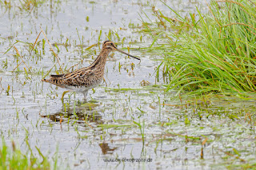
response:
<path id="1" fill-rule="evenodd" d="M 108 57 L 109 53 L 114 50 L 125 53 L 130 57 L 134 57 L 129 53 L 118 49 L 116 45 L 114 45 L 114 42 L 106 41 L 103 42 L 101 53 L 98 54 L 98 57 L 95 59 L 95 61 L 88 67 L 77 69 L 71 73 L 50 75 L 49 79 L 42 79 L 42 81 L 57 85 L 61 88 L 70 89 L 71 91 L 83 93 L 84 99 L 86 101 L 88 90 L 93 89 L 102 82 L 106 57 Z M 138 57 L 134 58 L 140 60 Z"/>

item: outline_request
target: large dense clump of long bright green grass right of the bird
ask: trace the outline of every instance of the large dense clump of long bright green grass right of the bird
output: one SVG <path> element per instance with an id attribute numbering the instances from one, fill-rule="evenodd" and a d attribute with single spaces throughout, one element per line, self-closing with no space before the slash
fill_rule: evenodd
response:
<path id="1" fill-rule="evenodd" d="M 154 12 L 162 26 L 176 30 L 158 33 L 169 41 L 161 52 L 164 73 L 171 79 L 167 89 L 193 94 L 255 92 L 255 1 L 214 1 L 207 6 L 208 13 L 198 10 L 189 17 L 171 8 L 176 18 Z"/>

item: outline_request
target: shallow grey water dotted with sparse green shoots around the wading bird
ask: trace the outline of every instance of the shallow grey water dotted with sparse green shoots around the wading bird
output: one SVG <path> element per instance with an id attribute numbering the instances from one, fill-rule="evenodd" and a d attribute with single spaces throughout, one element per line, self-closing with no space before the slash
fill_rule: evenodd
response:
<path id="1" fill-rule="evenodd" d="M 34 152 L 37 146 L 50 159 L 57 154 L 61 167 L 77 169 L 205 169 L 254 163 L 255 101 L 211 97 L 181 103 L 175 92 L 164 91 L 162 76 L 155 79 L 161 53 L 140 49 L 153 40 L 136 28 L 142 25 L 139 14 L 145 21 L 149 20 L 146 14 L 154 20 L 152 5 L 169 11 L 156 1 L 42 1 L 30 7 L 12 1 L 10 8 L 2 3 L 0 127 L 4 139 L 14 140 L 23 151 L 28 140 Z M 168 5 L 186 14 L 198 2 Z M 60 73 L 50 46 L 42 43 L 43 34 L 30 55 L 40 26 L 62 69 L 89 65 L 106 39 L 125 51 L 130 47 L 130 53 L 142 61 L 122 53 L 110 55 L 106 83 L 89 92 L 90 103 L 82 104 L 79 93 L 66 93 L 62 103 L 65 89 L 41 82 L 48 72 Z M 10 49 L 12 45 L 26 63 L 18 69 L 22 59 Z"/>

